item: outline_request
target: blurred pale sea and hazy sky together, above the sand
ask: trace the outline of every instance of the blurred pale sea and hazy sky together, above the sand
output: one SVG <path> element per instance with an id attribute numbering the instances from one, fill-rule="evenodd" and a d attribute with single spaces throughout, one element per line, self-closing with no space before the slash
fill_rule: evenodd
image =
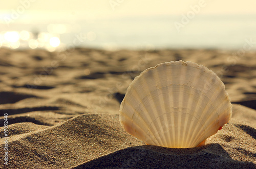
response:
<path id="1" fill-rule="evenodd" d="M 236 50 L 246 40 L 256 43 L 255 6 L 254 0 L 1 1 L 0 47 Z"/>

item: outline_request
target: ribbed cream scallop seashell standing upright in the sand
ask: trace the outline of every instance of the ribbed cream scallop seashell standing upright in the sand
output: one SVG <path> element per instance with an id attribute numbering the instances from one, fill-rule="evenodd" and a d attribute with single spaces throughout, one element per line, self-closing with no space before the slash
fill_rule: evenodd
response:
<path id="1" fill-rule="evenodd" d="M 219 77 L 203 65 L 182 60 L 144 70 L 130 84 L 119 110 L 126 132 L 168 148 L 204 145 L 231 115 Z"/>

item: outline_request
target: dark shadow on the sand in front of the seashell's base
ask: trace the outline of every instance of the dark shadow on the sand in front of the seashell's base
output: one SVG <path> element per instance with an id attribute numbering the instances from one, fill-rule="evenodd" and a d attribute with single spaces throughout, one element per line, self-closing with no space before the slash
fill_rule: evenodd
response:
<path id="1" fill-rule="evenodd" d="M 170 149 L 137 146 L 77 165 L 74 168 L 254 168 L 252 162 L 233 160 L 220 144 Z"/>

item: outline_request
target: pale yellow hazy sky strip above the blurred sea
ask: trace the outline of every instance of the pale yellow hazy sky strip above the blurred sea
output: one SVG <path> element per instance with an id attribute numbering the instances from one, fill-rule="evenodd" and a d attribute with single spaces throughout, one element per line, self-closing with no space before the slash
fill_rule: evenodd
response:
<path id="1" fill-rule="evenodd" d="M 23 3 L 22 3 L 23 2 Z M 12 0 L 0 2 L 0 13 L 26 9 L 23 15 L 51 18 L 118 17 L 130 15 L 186 14 L 203 3 L 203 14 L 256 14 L 255 0 Z M 112 4 L 112 5 L 111 5 Z"/>

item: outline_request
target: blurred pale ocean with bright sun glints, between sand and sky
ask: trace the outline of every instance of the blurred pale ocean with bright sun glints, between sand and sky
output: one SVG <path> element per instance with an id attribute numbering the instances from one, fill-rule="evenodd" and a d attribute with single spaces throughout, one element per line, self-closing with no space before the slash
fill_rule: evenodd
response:
<path id="1" fill-rule="evenodd" d="M 34 20 L 0 24 L 0 47 L 65 50 L 75 46 L 116 49 L 256 50 L 256 15 L 140 16 L 85 20 Z M 175 23 L 182 24 L 177 30 Z M 180 25 L 181 26 L 181 25 Z"/>

